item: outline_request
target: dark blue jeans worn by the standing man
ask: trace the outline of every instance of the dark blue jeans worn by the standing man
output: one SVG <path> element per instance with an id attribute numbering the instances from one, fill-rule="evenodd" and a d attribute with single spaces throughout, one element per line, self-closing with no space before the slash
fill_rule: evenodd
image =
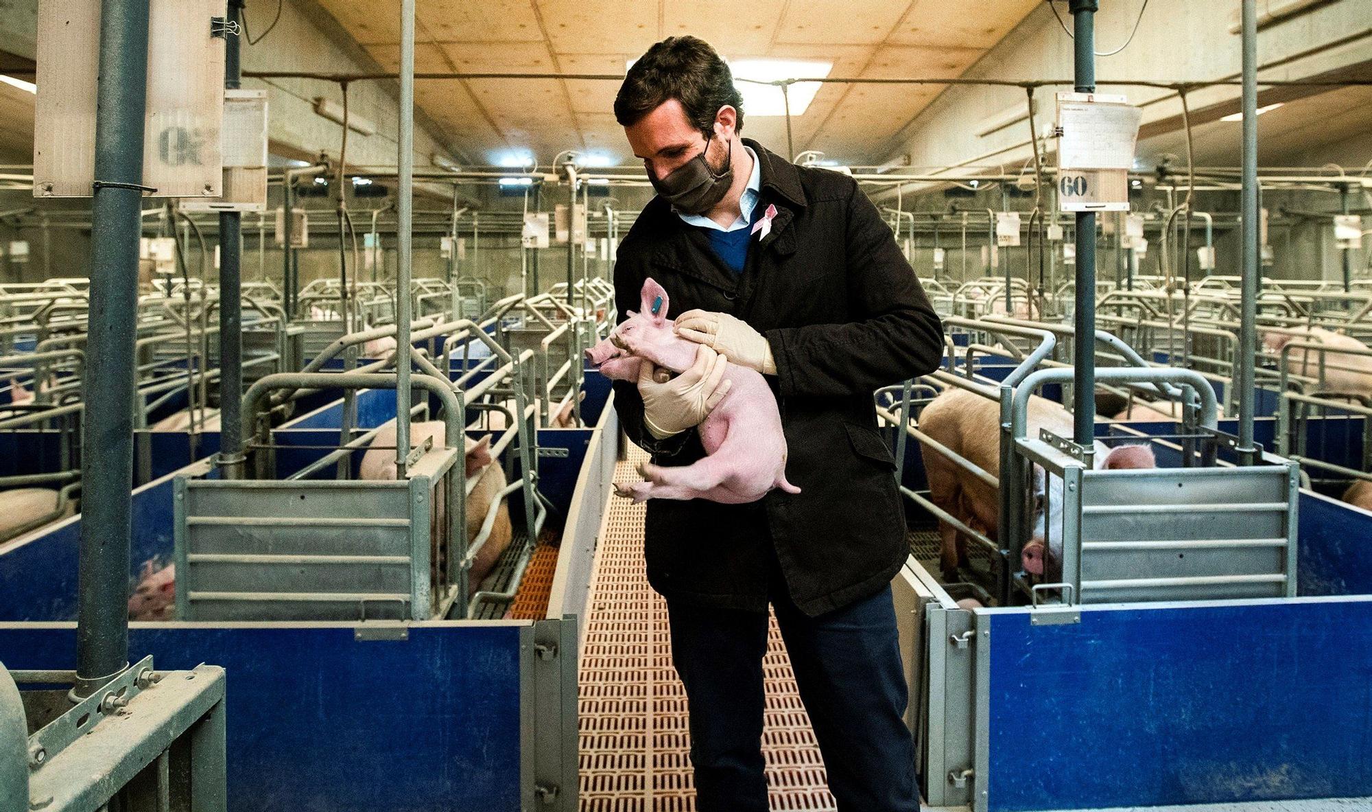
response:
<path id="1" fill-rule="evenodd" d="M 774 579 L 771 602 L 838 812 L 919 812 L 890 587 L 808 617 Z M 696 809 L 766 812 L 767 616 L 668 601 L 668 617 L 690 709 Z"/>

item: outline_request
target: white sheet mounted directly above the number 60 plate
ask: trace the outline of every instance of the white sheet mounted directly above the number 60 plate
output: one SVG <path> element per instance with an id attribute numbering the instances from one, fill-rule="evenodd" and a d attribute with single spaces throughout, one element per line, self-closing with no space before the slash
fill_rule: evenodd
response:
<path id="1" fill-rule="evenodd" d="M 1143 111 L 1124 96 L 1058 93 L 1058 167 L 1133 167 Z"/>

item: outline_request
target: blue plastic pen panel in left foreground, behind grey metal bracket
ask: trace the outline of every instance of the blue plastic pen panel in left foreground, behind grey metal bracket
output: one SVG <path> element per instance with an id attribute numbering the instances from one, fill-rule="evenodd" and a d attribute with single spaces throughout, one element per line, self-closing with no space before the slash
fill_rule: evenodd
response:
<path id="1" fill-rule="evenodd" d="M 233 812 L 517 812 L 521 624 L 136 624 L 130 658 L 228 669 Z M 73 668 L 75 630 L 0 627 L 10 668 Z"/>

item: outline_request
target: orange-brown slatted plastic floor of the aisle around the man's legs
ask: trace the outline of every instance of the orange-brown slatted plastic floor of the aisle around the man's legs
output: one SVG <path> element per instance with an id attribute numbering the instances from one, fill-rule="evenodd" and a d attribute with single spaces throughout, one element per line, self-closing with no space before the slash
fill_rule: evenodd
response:
<path id="1" fill-rule="evenodd" d="M 615 481 L 648 455 L 630 447 Z M 580 662 L 582 812 L 694 812 L 686 691 L 667 605 L 643 575 L 643 506 L 611 497 Z M 774 811 L 831 811 L 833 796 L 772 617 L 763 660 L 763 756 Z"/>

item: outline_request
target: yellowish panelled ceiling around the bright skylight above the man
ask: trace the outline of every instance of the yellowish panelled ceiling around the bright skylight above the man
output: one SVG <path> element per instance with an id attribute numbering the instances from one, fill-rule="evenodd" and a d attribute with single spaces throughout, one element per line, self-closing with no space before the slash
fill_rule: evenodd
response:
<path id="1" fill-rule="evenodd" d="M 397 4 L 318 0 L 377 63 L 397 70 Z M 654 41 L 694 34 L 729 59 L 833 62 L 834 77 L 959 77 L 1040 0 L 418 0 L 416 70 L 623 75 Z M 632 162 L 612 111 L 617 81 L 424 80 L 416 103 L 477 162 L 563 150 Z M 792 121 L 794 150 L 844 163 L 877 151 L 943 86 L 823 85 Z M 746 111 L 745 111 L 746 115 Z M 745 118 L 745 134 L 785 152 L 781 117 Z"/>

